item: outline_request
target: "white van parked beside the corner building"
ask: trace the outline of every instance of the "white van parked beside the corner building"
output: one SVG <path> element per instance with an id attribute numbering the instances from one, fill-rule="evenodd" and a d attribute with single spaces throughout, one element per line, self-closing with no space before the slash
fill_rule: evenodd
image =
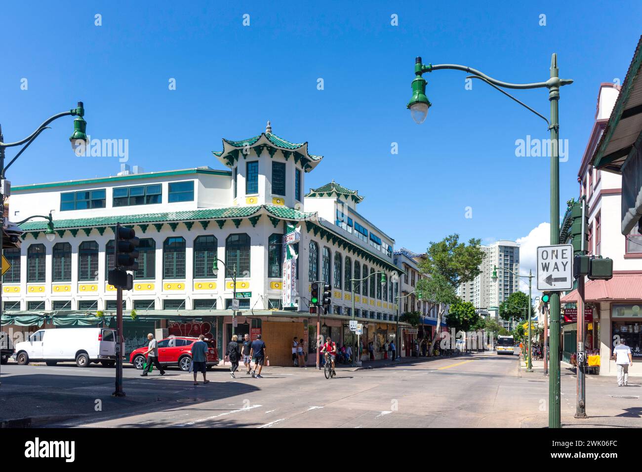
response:
<path id="1" fill-rule="evenodd" d="M 15 359 L 20 365 L 75 361 L 78 367 L 89 367 L 91 362 L 112 367 L 116 363 L 116 329 L 40 329 L 28 341 L 15 344 Z"/>

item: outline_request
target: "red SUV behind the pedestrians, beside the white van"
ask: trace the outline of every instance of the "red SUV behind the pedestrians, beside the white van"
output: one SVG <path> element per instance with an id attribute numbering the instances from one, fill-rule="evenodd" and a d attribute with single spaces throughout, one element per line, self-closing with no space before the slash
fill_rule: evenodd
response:
<path id="1" fill-rule="evenodd" d="M 168 365 L 178 365 L 178 368 L 183 371 L 189 371 L 189 364 L 192 362 L 192 344 L 198 341 L 198 338 L 191 338 L 185 336 L 177 336 L 165 338 L 159 341 L 158 356 L 159 363 L 163 367 Z M 207 369 L 213 365 L 218 365 L 218 351 L 214 347 L 213 342 L 205 340 L 207 343 Z M 129 362 L 134 364 L 136 369 L 143 369 L 143 364 L 147 361 L 146 356 L 143 354 L 149 349 L 148 347 L 139 347 L 132 351 L 129 356 Z"/>

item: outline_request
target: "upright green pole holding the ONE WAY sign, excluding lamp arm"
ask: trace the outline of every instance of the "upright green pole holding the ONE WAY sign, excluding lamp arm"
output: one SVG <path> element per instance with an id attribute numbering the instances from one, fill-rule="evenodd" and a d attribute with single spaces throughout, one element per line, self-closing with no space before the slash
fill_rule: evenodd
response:
<path id="1" fill-rule="evenodd" d="M 559 80 L 557 54 L 551 57 L 551 79 Z M 548 89 L 551 102 L 551 245 L 559 243 L 560 164 L 559 164 L 559 87 Z M 560 294 L 551 292 L 550 375 L 548 377 L 548 427 L 560 428 Z"/>

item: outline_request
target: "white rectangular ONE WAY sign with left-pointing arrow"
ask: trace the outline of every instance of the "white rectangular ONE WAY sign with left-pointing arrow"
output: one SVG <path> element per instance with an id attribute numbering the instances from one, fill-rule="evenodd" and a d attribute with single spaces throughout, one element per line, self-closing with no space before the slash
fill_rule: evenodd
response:
<path id="1" fill-rule="evenodd" d="M 537 290 L 559 292 L 573 288 L 573 245 L 537 247 Z"/>

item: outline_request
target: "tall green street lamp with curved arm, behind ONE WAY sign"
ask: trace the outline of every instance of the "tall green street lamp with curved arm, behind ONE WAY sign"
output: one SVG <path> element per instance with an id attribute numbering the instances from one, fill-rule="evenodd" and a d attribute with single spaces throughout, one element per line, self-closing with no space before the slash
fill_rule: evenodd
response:
<path id="1" fill-rule="evenodd" d="M 458 64 L 422 64 L 421 57 L 415 58 L 415 79 L 412 81 L 412 98 L 408 102 L 408 109 L 416 123 L 423 123 L 428 114 L 431 103 L 426 96 L 426 80 L 422 74 L 431 73 L 441 69 L 464 71 L 471 75 L 467 78 L 476 78 L 488 83 L 491 87 L 505 94 L 511 100 L 516 101 L 539 118 L 546 121 L 551 135 L 551 157 L 550 157 L 550 244 L 559 243 L 559 98 L 560 87 L 573 83 L 570 79 L 559 78 L 557 67 L 557 53 L 551 55 L 550 76 L 545 82 L 534 83 L 508 83 L 496 80 L 482 72 L 467 66 Z M 550 121 L 536 112 L 525 103 L 517 100 L 503 89 L 548 89 L 548 100 L 550 101 Z M 548 388 L 548 427 L 560 428 L 560 356 L 559 356 L 559 333 L 560 333 L 560 295 L 559 292 L 551 293 L 551 349 L 550 349 L 550 377 Z"/>

